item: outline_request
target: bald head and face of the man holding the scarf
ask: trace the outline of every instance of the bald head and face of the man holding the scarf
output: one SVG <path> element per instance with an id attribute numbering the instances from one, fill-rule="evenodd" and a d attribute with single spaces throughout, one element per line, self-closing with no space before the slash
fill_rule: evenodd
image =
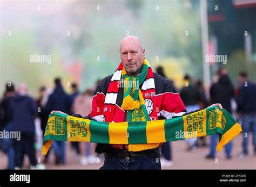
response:
<path id="1" fill-rule="evenodd" d="M 134 38 L 122 41 L 120 45 L 120 57 L 128 74 L 137 75 L 143 64 L 145 49 L 140 42 Z"/>

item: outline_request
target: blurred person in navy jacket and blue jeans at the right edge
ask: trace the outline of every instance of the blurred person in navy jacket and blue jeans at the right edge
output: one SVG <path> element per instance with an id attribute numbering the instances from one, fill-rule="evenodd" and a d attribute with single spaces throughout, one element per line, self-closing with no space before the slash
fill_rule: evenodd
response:
<path id="1" fill-rule="evenodd" d="M 238 111 L 242 113 L 242 131 L 244 140 L 242 141 L 242 152 L 238 155 L 244 157 L 248 155 L 248 139 L 250 127 L 252 125 L 254 155 L 256 156 L 256 84 L 248 80 L 246 71 L 239 73 L 240 88 L 237 97 Z"/>

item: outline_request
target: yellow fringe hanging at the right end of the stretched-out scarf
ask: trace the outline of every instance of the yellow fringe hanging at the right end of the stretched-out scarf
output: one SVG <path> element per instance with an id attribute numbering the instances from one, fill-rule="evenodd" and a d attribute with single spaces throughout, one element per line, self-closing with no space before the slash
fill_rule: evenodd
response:
<path id="1" fill-rule="evenodd" d="M 216 150 L 219 152 L 222 150 L 223 146 L 225 146 L 228 142 L 230 142 L 235 136 L 237 136 L 242 131 L 242 128 L 238 123 L 235 123 L 230 130 L 228 130 L 223 136 L 221 137 L 220 142 L 218 143 Z"/>

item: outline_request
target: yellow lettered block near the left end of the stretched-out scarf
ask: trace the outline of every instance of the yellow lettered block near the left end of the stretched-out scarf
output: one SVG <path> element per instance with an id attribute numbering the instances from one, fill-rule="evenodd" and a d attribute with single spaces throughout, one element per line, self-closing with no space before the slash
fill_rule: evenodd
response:
<path id="1" fill-rule="evenodd" d="M 90 142 L 91 132 L 90 132 L 90 120 L 81 118 L 76 118 L 68 116 L 66 118 L 68 122 L 68 141 L 85 141 Z"/>

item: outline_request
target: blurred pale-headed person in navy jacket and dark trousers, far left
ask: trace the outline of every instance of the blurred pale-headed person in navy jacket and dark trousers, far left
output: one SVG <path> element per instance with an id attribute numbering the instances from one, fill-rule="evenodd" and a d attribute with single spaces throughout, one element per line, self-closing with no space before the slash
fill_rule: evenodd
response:
<path id="1" fill-rule="evenodd" d="M 31 169 L 36 168 L 35 116 L 37 113 L 34 100 L 27 96 L 24 83 L 19 85 L 18 95 L 10 99 L 9 113 L 14 131 L 21 132 L 19 141 L 14 142 L 15 168 L 22 168 L 24 154 L 28 154 Z"/>

